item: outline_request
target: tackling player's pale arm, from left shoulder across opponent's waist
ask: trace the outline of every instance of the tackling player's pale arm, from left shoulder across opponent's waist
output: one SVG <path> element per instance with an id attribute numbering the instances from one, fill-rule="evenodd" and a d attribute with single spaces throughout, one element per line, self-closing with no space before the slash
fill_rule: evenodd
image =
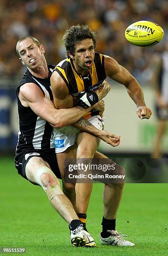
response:
<path id="1" fill-rule="evenodd" d="M 70 125 L 88 113 L 88 109 L 80 106 L 70 109 L 55 109 L 52 101 L 44 97 L 40 88 L 34 83 L 26 83 L 20 87 L 19 99 L 23 106 L 30 107 L 36 115 L 55 128 Z"/>

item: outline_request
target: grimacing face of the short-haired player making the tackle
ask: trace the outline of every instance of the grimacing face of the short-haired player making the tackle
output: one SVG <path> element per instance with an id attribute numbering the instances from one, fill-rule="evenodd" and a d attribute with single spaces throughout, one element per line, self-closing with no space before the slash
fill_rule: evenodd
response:
<path id="1" fill-rule="evenodd" d="M 20 54 L 20 60 L 30 69 L 36 69 L 42 64 L 44 47 L 40 48 L 32 39 L 27 38 L 17 45 L 17 50 Z"/>

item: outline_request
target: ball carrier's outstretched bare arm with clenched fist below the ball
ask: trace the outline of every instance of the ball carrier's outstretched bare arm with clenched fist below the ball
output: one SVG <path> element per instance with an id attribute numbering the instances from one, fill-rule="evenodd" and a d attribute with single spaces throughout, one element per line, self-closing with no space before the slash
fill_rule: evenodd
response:
<path id="1" fill-rule="evenodd" d="M 129 96 L 137 106 L 138 117 L 141 119 L 149 119 L 151 117 L 151 110 L 146 107 L 143 91 L 138 81 L 128 72 L 127 69 L 119 65 L 116 60 L 106 55 L 104 57 L 106 75 L 116 82 L 124 84 Z"/>

